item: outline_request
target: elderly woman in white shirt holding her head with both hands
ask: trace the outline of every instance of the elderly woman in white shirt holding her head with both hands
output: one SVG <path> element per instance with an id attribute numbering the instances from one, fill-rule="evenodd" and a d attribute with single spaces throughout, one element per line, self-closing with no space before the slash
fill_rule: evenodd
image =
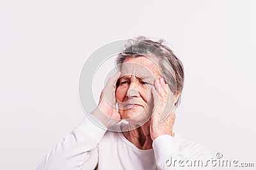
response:
<path id="1" fill-rule="evenodd" d="M 203 146 L 173 132 L 184 69 L 162 40 L 136 39 L 116 66 L 120 71 L 109 78 L 98 107 L 38 169 L 186 169 L 179 160 L 211 158 Z"/>

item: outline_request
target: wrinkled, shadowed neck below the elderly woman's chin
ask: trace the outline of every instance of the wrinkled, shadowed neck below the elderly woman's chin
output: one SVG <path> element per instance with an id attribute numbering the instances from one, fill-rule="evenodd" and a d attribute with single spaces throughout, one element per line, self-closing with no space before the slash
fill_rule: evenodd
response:
<path id="1" fill-rule="evenodd" d="M 152 149 L 152 139 L 150 136 L 150 120 L 132 131 L 122 132 L 124 137 L 141 150 Z"/>

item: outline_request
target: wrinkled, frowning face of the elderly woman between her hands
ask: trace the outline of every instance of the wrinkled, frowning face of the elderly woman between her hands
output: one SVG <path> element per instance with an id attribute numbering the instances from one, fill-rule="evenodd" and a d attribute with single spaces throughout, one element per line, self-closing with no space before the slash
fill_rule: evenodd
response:
<path id="1" fill-rule="evenodd" d="M 145 123 L 152 115 L 151 88 L 161 77 L 159 67 L 147 57 L 127 57 L 117 83 L 116 99 L 122 119 Z"/>

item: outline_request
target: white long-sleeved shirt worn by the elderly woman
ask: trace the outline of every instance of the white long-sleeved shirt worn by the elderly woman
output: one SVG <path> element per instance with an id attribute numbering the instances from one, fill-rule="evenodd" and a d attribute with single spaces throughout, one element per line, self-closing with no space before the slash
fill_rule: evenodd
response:
<path id="1" fill-rule="evenodd" d="M 48 153 L 37 170 L 188 169 L 185 161 L 183 167 L 178 161 L 211 159 L 202 145 L 176 132 L 174 137 L 167 134 L 159 136 L 153 141 L 152 147 L 141 150 L 128 141 L 122 132 L 106 131 L 85 118 L 79 127 Z M 208 165 L 203 169 L 210 167 Z"/>

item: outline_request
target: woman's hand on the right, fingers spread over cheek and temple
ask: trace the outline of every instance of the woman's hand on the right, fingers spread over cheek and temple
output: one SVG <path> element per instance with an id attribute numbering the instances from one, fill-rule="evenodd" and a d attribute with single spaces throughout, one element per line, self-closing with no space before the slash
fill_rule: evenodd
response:
<path id="1" fill-rule="evenodd" d="M 154 115 L 150 122 L 150 136 L 152 140 L 164 134 L 174 136 L 172 130 L 175 121 L 175 96 L 163 78 L 159 78 L 154 82 L 151 92 L 154 98 L 152 112 Z"/>

